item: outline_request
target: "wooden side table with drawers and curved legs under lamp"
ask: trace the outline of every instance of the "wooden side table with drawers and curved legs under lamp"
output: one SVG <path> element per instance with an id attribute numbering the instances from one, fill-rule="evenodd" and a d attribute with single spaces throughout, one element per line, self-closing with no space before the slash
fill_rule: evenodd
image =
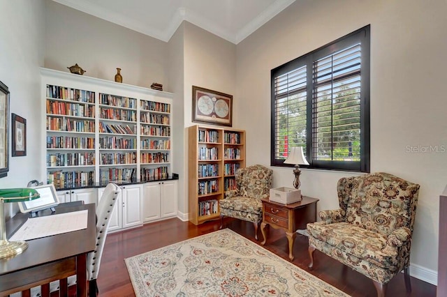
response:
<path id="1" fill-rule="evenodd" d="M 293 204 L 281 204 L 262 199 L 263 201 L 263 222 L 261 223 L 261 232 L 265 245 L 267 237 L 265 236 L 265 226 L 270 225 L 274 229 L 284 229 L 288 240 L 288 258 L 293 261 L 293 242 L 296 238 L 298 229 L 306 229 L 309 222 L 316 221 L 316 202 L 318 199 L 303 196 L 300 202 Z"/>

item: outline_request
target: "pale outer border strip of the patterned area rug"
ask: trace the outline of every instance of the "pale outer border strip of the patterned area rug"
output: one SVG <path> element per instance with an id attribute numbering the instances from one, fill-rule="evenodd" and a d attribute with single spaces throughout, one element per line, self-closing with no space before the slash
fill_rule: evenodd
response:
<path id="1" fill-rule="evenodd" d="M 141 253 L 141 254 L 135 254 L 134 256 L 131 256 L 131 257 L 128 257 L 128 258 L 124 258 L 124 262 L 125 262 L 125 264 L 126 264 L 126 268 L 127 268 L 127 273 L 129 274 L 129 277 L 130 277 L 130 279 L 131 279 L 132 289 L 133 289 L 134 293 L 135 293 L 135 288 L 133 287 L 133 283 L 134 283 L 134 282 L 136 283 L 136 281 L 135 281 L 135 278 L 133 277 L 133 275 L 131 275 L 131 273 L 129 273 L 129 267 L 130 267 L 130 264 L 128 263 L 128 261 L 131 261 L 132 258 L 140 257 L 140 256 L 142 256 L 142 255 L 148 254 L 149 252 L 155 252 L 155 251 L 157 251 L 157 250 L 161 250 L 161 249 L 164 249 L 164 248 L 169 248 L 169 247 L 171 247 L 171 246 L 173 246 L 173 245 L 177 245 L 177 244 L 179 244 L 179 243 L 186 243 L 186 242 L 189 242 L 189 241 L 193 241 L 194 239 L 196 239 L 196 238 L 200 238 L 200 237 L 202 237 L 202 236 L 207 236 L 207 235 L 210 235 L 210 234 L 220 233 L 220 232 L 226 232 L 226 231 L 229 231 L 230 233 L 233 233 L 233 234 L 235 234 L 235 235 L 241 237 L 242 240 L 245 241 L 245 242 L 249 242 L 249 243 L 252 243 L 252 244 L 258 246 L 258 248 L 261 248 L 261 249 L 264 250 L 265 252 L 267 252 L 267 253 L 269 253 L 270 255 L 272 255 L 272 257 L 279 259 L 279 261 L 281 261 L 281 263 L 284 263 L 284 265 L 287 265 L 287 266 L 288 266 L 287 268 L 298 268 L 298 269 L 300 269 L 300 271 L 302 271 L 303 273 L 305 273 L 305 275 L 306 275 L 308 278 L 314 279 L 314 280 L 319 281 L 319 282 L 324 282 L 325 284 L 328 284 L 330 287 L 332 287 L 333 289 L 335 289 L 335 291 L 339 291 L 340 293 L 344 294 L 345 296 L 348 296 L 348 297 L 350 296 L 349 294 L 347 294 L 346 292 L 342 291 L 341 289 L 338 289 L 338 288 L 335 287 L 334 285 L 329 284 L 328 282 L 325 282 L 324 280 L 321 280 L 321 278 L 316 277 L 316 276 L 313 275 L 312 273 L 309 273 L 309 272 L 305 271 L 303 268 L 300 268 L 300 267 L 296 266 L 295 264 L 291 263 L 291 261 L 287 261 L 286 259 L 280 257 L 279 255 L 275 254 L 274 252 L 271 252 L 270 250 L 264 248 L 263 245 L 259 245 L 259 244 L 255 243 L 255 242 L 253 242 L 253 241 L 250 241 L 248 238 L 245 238 L 244 236 L 242 236 L 242 235 L 238 234 L 237 232 L 235 232 L 235 231 L 229 229 L 228 227 L 227 227 L 227 228 L 224 228 L 224 229 L 219 229 L 219 230 L 216 230 L 216 231 L 212 231 L 212 232 L 209 232 L 209 233 L 206 233 L 206 234 L 202 234 L 202 235 L 199 235 L 199 236 L 196 236 L 196 237 L 193 237 L 193 238 L 188 238 L 188 239 L 185 239 L 185 240 L 183 240 L 183 241 L 178 241 L 177 243 L 172 243 L 172 244 L 170 244 L 170 245 L 165 245 L 165 246 L 163 246 L 163 247 L 161 247 L 161 248 L 157 248 L 157 249 L 155 249 L 155 250 L 149 250 L 149 251 L 147 251 L 147 252 L 143 252 L 143 253 Z M 136 293 L 135 293 L 135 295 L 136 295 Z"/>

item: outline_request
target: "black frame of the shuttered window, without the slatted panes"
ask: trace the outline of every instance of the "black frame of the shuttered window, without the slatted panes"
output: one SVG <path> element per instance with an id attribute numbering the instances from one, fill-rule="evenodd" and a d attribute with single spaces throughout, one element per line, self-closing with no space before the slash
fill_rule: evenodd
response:
<path id="1" fill-rule="evenodd" d="M 360 60 L 360 161 L 323 161 L 314 160 L 312 156 L 312 104 L 314 99 L 314 72 L 313 63 L 321 57 L 328 56 L 340 50 L 346 49 L 350 45 L 360 43 L 361 60 Z M 284 63 L 277 68 L 271 70 L 271 147 L 270 147 L 270 165 L 279 167 L 292 167 L 293 165 L 284 164 L 284 158 L 277 158 L 275 152 L 277 146 L 276 135 L 276 98 L 275 98 L 275 78 L 280 75 L 291 72 L 302 66 L 307 66 L 307 122 L 306 122 L 306 158 L 309 165 L 300 165 L 300 167 L 310 169 L 330 169 L 343 170 L 351 172 L 369 172 L 370 168 L 370 131 L 369 131 L 369 89 L 370 89 L 370 25 L 353 31 L 342 38 L 338 38 L 327 45 L 323 45 L 318 49 L 300 56 L 292 61 Z"/>

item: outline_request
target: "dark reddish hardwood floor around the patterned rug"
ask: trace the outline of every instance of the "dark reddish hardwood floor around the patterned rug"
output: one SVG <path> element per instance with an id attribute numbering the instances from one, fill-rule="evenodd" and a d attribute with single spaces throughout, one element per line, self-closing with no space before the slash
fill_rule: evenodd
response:
<path id="1" fill-rule="evenodd" d="M 175 218 L 145 224 L 143 227 L 129 231 L 108 234 L 98 276 L 99 296 L 135 296 L 126 264 L 124 264 L 124 258 L 216 231 L 219 226 L 219 221 L 206 222 L 196 226 Z M 224 220 L 224 227 L 228 227 L 256 242 L 251 223 L 228 218 Z M 258 237 L 260 240 L 256 243 L 260 244 L 263 238 L 261 231 L 259 231 Z M 267 237 L 265 248 L 288 260 L 288 243 L 284 231 L 269 228 Z M 314 270 L 310 271 L 307 268 L 309 264 L 307 237 L 298 234 L 293 246 L 293 253 L 295 256 L 293 264 L 332 284 L 346 294 L 353 297 L 376 296 L 376 290 L 371 280 L 318 252 L 318 250 L 314 254 L 316 258 Z M 406 294 L 404 275 L 400 273 L 388 284 L 386 296 L 436 296 L 436 286 L 432 284 L 411 277 L 411 286 L 411 294 Z"/>

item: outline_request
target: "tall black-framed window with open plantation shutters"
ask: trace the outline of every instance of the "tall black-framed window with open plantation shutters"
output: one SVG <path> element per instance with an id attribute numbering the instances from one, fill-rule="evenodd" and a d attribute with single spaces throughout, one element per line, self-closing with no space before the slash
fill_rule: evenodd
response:
<path id="1" fill-rule="evenodd" d="M 271 164 L 369 172 L 369 26 L 272 70 Z"/>

